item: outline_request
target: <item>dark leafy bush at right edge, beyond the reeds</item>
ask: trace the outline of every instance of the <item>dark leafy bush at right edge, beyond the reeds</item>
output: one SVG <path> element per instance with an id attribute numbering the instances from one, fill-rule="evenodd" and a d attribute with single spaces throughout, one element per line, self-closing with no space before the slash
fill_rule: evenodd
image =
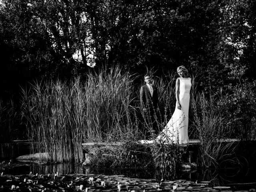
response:
<path id="1" fill-rule="evenodd" d="M 218 101 L 218 107 L 226 119 L 230 136 L 241 140 L 256 138 L 256 82 L 243 78 L 244 66 L 230 65 L 229 78 L 233 84 L 227 86 L 229 92 Z"/>

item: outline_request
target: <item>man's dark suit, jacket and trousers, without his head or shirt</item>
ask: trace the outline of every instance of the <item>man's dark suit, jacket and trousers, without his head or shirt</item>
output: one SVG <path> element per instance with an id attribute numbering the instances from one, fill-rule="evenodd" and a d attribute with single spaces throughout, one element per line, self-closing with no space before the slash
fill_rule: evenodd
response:
<path id="1" fill-rule="evenodd" d="M 143 108 L 146 109 L 146 112 L 143 111 L 144 119 L 146 120 L 146 130 L 158 131 L 157 126 L 157 111 L 158 108 L 158 90 L 157 87 L 152 86 L 153 94 L 151 96 L 150 90 L 147 85 L 144 85 L 140 88 L 140 104 Z M 150 134 L 147 134 L 150 136 Z"/>

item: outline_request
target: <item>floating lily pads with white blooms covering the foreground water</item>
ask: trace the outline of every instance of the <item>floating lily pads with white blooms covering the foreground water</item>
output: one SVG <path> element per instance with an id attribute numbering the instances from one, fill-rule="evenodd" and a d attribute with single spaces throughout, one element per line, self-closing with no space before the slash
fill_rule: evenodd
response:
<path id="1" fill-rule="evenodd" d="M 29 174 L 29 175 L 2 175 L 0 177 L 0 192 L 5 191 L 200 191 L 218 192 L 229 190 L 229 186 L 208 186 L 209 182 L 192 182 L 187 180 L 164 181 L 155 179 L 128 178 L 122 175 L 95 175 L 95 174 Z"/>

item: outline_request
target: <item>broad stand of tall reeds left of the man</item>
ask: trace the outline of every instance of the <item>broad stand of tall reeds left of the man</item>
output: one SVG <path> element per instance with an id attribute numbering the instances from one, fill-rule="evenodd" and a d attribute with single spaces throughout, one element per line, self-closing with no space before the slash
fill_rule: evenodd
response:
<path id="1" fill-rule="evenodd" d="M 90 72 L 86 82 L 50 80 L 23 89 L 28 137 L 38 144 L 33 152 L 46 152 L 46 161 L 80 162 L 82 142 L 138 140 L 133 79 L 117 67 Z"/>

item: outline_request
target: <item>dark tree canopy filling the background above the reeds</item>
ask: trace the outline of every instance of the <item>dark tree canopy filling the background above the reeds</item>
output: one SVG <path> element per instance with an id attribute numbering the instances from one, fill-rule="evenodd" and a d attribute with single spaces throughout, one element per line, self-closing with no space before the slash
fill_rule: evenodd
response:
<path id="1" fill-rule="evenodd" d="M 2 0 L 1 92 L 112 65 L 157 75 L 185 65 L 214 90 L 230 65 L 254 78 L 255 18 L 254 0 Z"/>

